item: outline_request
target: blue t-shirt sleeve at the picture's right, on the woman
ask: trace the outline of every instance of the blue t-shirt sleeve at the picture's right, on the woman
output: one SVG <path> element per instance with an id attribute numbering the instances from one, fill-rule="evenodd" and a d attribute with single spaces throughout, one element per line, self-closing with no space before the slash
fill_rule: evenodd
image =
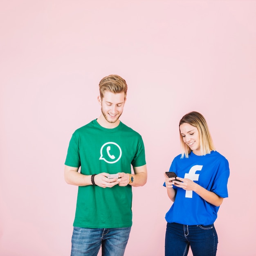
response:
<path id="1" fill-rule="evenodd" d="M 216 178 L 213 182 L 213 186 L 211 191 L 216 193 L 216 195 L 227 198 L 228 190 L 227 190 L 227 182 L 229 179 L 229 162 L 226 158 L 223 158 L 218 166 L 218 172 Z"/>

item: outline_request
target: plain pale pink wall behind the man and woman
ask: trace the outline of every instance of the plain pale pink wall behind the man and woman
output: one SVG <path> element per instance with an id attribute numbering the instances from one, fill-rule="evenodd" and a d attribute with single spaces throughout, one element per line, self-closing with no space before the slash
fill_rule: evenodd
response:
<path id="1" fill-rule="evenodd" d="M 108 74 L 128 83 L 121 121 L 142 135 L 148 166 L 125 255 L 164 255 L 163 173 L 193 110 L 230 164 L 218 255 L 256 255 L 255 11 L 245 0 L 2 0 L 0 255 L 70 255 L 77 187 L 63 178 L 67 146 L 99 117 Z"/>

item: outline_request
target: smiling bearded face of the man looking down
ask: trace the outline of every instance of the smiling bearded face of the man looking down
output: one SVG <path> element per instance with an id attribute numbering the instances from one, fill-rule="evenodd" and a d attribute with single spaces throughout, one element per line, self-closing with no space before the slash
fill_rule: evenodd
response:
<path id="1" fill-rule="evenodd" d="M 101 103 L 101 112 L 109 123 L 115 123 L 119 120 L 124 109 L 124 92 L 113 93 L 106 91 L 104 97 L 98 97 L 99 103 Z"/>

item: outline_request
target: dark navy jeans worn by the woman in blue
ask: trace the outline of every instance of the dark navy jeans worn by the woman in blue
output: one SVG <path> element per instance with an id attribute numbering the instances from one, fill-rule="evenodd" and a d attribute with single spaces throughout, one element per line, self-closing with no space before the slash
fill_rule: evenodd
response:
<path id="1" fill-rule="evenodd" d="M 216 256 L 217 244 L 218 236 L 214 225 L 167 223 L 165 256 L 186 256 L 189 246 L 194 256 Z"/>

